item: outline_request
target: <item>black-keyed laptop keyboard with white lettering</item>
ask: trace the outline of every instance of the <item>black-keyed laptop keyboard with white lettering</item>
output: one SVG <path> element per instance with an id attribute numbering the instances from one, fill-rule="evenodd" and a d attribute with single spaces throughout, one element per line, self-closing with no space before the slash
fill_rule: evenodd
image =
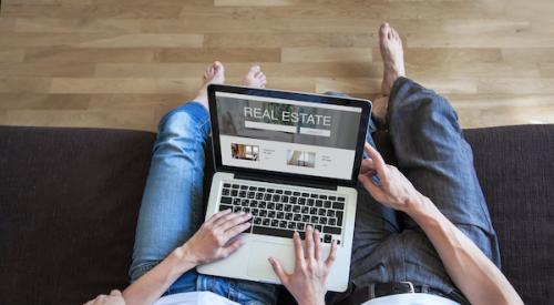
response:
<path id="1" fill-rule="evenodd" d="M 252 213 L 252 234 L 305 238 L 307 225 L 320 232 L 321 243 L 342 240 L 345 196 L 287 189 L 260 187 L 244 183 L 223 184 L 219 211 Z"/>

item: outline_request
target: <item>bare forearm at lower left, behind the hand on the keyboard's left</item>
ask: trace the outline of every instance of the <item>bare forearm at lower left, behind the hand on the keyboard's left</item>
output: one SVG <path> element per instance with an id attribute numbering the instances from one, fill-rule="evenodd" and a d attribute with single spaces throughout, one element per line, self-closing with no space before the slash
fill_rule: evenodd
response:
<path id="1" fill-rule="evenodd" d="M 162 263 L 141 276 L 124 292 L 126 305 L 152 304 L 185 272 L 196 264 L 186 257 L 186 246 L 173 251 Z"/>

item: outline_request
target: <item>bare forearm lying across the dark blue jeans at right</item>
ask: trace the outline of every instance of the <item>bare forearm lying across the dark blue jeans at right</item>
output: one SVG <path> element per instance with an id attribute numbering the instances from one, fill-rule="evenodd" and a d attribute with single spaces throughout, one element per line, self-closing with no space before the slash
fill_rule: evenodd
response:
<path id="1" fill-rule="evenodd" d="M 406 211 L 424 231 L 454 284 L 472 304 L 523 304 L 502 272 L 427 197 Z"/>

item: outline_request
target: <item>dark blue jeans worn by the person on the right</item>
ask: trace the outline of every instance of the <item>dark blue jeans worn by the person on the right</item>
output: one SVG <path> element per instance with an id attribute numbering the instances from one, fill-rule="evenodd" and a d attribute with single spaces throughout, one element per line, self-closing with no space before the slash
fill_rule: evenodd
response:
<path id="1" fill-rule="evenodd" d="M 500 266 L 496 234 L 456 113 L 444 98 L 406 78 L 394 82 L 389 99 L 387 122 L 399 170 Z M 351 283 L 410 281 L 459 293 L 413 220 L 382 206 L 361 185 L 358 192 Z M 330 294 L 329 301 L 347 294 Z"/>

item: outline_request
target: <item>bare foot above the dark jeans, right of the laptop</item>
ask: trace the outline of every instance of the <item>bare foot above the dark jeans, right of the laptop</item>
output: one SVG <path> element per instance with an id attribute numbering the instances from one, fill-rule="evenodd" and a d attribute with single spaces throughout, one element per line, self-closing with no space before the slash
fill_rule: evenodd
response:
<path id="1" fill-rule="evenodd" d="M 389 96 L 394 81 L 406 75 L 402 40 L 389 23 L 383 23 L 379 28 L 379 47 L 384 65 L 381 93 L 383 96 Z"/>

